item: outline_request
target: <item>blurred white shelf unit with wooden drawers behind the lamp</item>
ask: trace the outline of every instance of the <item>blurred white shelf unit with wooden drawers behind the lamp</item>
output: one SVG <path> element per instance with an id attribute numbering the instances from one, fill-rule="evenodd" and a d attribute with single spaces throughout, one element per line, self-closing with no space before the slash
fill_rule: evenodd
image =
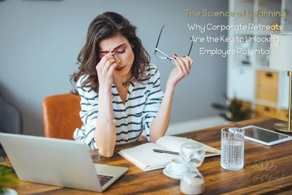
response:
<path id="1" fill-rule="evenodd" d="M 229 11 L 286 11 L 287 19 L 273 17 L 229 17 L 228 24 L 281 24 L 282 32 L 292 31 L 292 0 L 229 0 Z M 250 37 L 270 36 L 276 31 L 230 30 L 228 36 Z M 246 39 L 245 39 L 246 40 Z M 228 44 L 228 49 L 237 48 L 269 49 L 270 42 L 247 42 Z M 269 55 L 228 55 L 227 57 L 227 96 L 237 97 L 245 107 L 255 111 L 252 117 L 270 116 L 288 120 L 289 77 L 285 71 L 269 68 Z"/>

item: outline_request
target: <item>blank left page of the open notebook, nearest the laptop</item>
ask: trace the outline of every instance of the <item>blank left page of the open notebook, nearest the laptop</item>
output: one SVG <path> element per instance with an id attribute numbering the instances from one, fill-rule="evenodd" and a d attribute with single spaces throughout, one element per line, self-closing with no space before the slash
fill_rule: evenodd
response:
<path id="1" fill-rule="evenodd" d="M 147 170 L 151 166 L 164 166 L 165 163 L 177 157 L 177 155 L 153 152 L 154 149 L 165 150 L 155 143 L 145 143 L 133 148 L 123 149 L 119 153 L 143 170 Z"/>

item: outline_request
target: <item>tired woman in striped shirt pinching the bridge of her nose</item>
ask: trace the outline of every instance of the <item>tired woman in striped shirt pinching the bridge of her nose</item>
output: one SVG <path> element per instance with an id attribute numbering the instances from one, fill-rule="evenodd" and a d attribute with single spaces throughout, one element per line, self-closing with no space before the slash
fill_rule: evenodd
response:
<path id="1" fill-rule="evenodd" d="M 176 84 L 190 73 L 193 60 L 174 55 L 176 67 L 161 91 L 160 74 L 136 36 L 136 27 L 121 15 L 106 12 L 90 24 L 87 41 L 72 75 L 81 97 L 83 126 L 73 134 L 101 156 L 111 157 L 116 144 L 162 137 L 169 125 Z M 78 94 L 75 91 L 75 94 Z"/>

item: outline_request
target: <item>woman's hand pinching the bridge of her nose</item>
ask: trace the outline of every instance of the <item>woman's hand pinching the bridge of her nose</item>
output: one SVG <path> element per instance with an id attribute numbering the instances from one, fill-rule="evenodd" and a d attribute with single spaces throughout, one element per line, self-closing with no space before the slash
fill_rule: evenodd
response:
<path id="1" fill-rule="evenodd" d="M 114 51 L 102 57 L 95 69 L 97 71 L 98 82 L 101 88 L 111 88 L 113 83 L 113 70 L 117 67 Z"/>

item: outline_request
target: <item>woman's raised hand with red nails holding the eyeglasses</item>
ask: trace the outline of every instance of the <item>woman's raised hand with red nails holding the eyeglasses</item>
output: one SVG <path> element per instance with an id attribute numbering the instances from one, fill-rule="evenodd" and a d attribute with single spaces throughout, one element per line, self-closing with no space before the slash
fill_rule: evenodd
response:
<path id="1" fill-rule="evenodd" d="M 167 83 L 173 87 L 175 87 L 182 78 L 190 74 L 190 69 L 194 63 L 189 56 L 179 57 L 174 55 L 174 61 L 176 67 L 171 71 L 167 80 Z"/>

